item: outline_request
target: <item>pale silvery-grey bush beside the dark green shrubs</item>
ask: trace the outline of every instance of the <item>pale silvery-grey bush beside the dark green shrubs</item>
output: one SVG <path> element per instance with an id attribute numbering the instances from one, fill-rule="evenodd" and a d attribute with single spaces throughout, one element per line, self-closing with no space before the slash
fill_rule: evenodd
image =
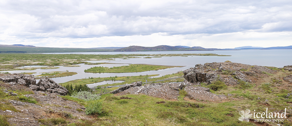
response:
<path id="1" fill-rule="evenodd" d="M 73 98 L 79 98 L 85 101 L 91 101 L 91 100 L 98 100 L 100 99 L 100 96 L 96 95 L 96 94 L 92 94 L 89 91 L 80 91 L 74 95 L 72 95 L 71 97 Z"/>

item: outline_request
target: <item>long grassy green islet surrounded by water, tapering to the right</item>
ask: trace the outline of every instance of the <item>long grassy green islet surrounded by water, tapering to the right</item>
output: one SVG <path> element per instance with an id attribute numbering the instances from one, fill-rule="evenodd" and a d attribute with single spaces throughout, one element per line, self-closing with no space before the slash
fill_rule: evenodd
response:
<path id="1" fill-rule="evenodd" d="M 130 66 L 117 66 L 117 67 L 101 67 L 95 66 L 91 67 L 84 72 L 89 73 L 129 73 L 129 72 L 143 72 L 151 70 L 160 70 L 173 67 L 182 67 L 182 66 L 158 66 L 158 65 L 144 65 L 144 64 L 131 64 Z"/>

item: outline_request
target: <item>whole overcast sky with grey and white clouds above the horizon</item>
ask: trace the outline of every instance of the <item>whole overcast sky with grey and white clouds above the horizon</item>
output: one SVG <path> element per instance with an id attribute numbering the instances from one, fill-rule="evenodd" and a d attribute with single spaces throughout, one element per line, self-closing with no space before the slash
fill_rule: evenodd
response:
<path id="1" fill-rule="evenodd" d="M 0 44 L 292 45 L 291 0 L 1 0 Z"/>

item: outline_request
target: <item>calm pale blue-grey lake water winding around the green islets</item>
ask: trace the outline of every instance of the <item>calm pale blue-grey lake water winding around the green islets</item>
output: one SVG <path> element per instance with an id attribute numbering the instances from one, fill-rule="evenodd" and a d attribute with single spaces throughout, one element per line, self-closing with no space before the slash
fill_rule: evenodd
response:
<path id="1" fill-rule="evenodd" d="M 225 62 L 230 60 L 231 62 L 237 62 L 249 65 L 259 66 L 275 66 L 283 67 L 286 65 L 292 65 L 292 50 L 231 50 L 231 51 L 159 51 L 159 52 L 86 52 L 86 53 L 44 53 L 44 54 L 183 54 L 183 53 L 215 53 L 221 55 L 232 56 L 174 56 L 174 57 L 160 57 L 160 58 L 131 58 L 129 60 L 115 59 L 115 60 L 98 60 L 88 62 L 111 62 L 111 63 L 123 63 L 123 64 L 100 64 L 100 65 L 86 65 L 78 64 L 79 67 L 60 67 L 59 69 L 36 69 L 32 71 L 2 71 L 9 73 L 22 73 L 22 72 L 36 72 L 33 75 L 40 75 L 41 72 L 54 72 L 54 71 L 66 71 L 77 72 L 78 74 L 52 78 L 57 83 L 63 83 L 70 80 L 88 78 L 88 77 L 110 77 L 110 76 L 137 76 L 137 75 L 151 75 L 159 74 L 155 77 L 161 77 L 162 75 L 176 73 L 178 71 L 184 71 L 190 67 L 194 67 L 196 64 L 204 64 L 208 62 Z M 143 56 L 141 56 L 143 57 Z M 145 57 L 145 56 L 144 56 Z M 125 66 L 129 64 L 155 64 L 155 65 L 170 65 L 170 66 L 185 66 L 163 69 L 158 71 L 145 71 L 135 73 L 85 73 L 84 70 L 94 66 Z M 37 67 L 37 66 L 25 66 L 25 67 Z M 1 72 L 1 71 L 0 71 Z"/>

